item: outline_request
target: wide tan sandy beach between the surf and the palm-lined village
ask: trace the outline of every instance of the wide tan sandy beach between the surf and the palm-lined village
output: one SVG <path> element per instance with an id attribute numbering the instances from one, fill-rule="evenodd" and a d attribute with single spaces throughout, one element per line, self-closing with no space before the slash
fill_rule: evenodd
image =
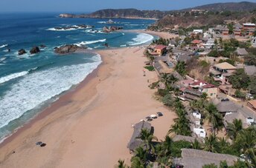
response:
<path id="1" fill-rule="evenodd" d="M 143 76 L 143 47 L 99 50 L 103 64 L 1 144 L 0 167 L 114 167 L 129 162 L 132 124 L 156 112 L 155 135 L 163 139 L 175 118 L 153 98 Z M 43 141 L 46 147 L 36 146 Z M 15 153 L 12 153 L 15 151 Z"/>

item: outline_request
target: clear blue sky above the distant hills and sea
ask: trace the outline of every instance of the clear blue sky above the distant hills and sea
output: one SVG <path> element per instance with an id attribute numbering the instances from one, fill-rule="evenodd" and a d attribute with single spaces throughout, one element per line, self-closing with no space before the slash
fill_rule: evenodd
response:
<path id="1" fill-rule="evenodd" d="M 87 13 L 101 9 L 180 10 L 202 4 L 237 0 L 0 0 L 4 12 Z M 256 2 L 256 0 L 249 0 Z"/>

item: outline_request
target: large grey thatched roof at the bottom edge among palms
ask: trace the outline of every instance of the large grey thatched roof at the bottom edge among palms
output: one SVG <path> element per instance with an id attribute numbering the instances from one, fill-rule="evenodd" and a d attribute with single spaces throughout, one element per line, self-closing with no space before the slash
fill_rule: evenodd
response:
<path id="1" fill-rule="evenodd" d="M 182 160 L 179 164 L 185 168 L 199 168 L 205 164 L 216 164 L 219 167 L 221 161 L 226 161 L 228 166 L 232 166 L 237 160 L 237 156 L 234 155 L 206 152 L 199 149 L 182 149 Z"/>

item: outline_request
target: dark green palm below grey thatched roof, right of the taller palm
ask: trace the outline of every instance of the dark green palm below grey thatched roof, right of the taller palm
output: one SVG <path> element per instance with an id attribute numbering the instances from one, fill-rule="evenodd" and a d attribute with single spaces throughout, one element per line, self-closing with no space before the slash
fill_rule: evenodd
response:
<path id="1" fill-rule="evenodd" d="M 243 130 L 243 122 L 242 120 L 238 120 L 237 118 L 234 119 L 233 123 L 228 123 L 227 126 L 227 133 L 228 137 L 234 140 L 237 138 L 237 133 L 240 132 L 240 130 Z"/>

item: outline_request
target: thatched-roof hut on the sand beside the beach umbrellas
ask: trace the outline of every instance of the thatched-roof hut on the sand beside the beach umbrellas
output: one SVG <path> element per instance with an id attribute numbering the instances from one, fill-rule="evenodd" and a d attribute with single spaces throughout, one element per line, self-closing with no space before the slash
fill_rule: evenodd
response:
<path id="1" fill-rule="evenodd" d="M 141 135 L 141 130 L 146 129 L 150 132 L 153 131 L 153 127 L 151 127 L 151 124 L 146 121 L 140 121 L 139 123 L 135 124 L 133 129 L 134 131 L 132 134 L 132 138 L 127 145 L 127 148 L 130 152 L 134 152 L 135 149 L 142 144 L 142 140 L 138 138 Z"/>

